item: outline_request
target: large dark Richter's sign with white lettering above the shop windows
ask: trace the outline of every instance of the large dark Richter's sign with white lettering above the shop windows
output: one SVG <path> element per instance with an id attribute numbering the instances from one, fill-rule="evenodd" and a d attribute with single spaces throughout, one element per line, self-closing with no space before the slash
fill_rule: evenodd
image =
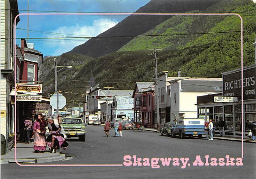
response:
<path id="1" fill-rule="evenodd" d="M 244 99 L 255 99 L 255 65 L 245 67 L 243 70 L 243 81 L 241 79 L 241 69 L 235 72 L 223 74 L 223 94 L 224 96 L 238 96 L 241 99 L 241 88 L 243 85 Z"/>

